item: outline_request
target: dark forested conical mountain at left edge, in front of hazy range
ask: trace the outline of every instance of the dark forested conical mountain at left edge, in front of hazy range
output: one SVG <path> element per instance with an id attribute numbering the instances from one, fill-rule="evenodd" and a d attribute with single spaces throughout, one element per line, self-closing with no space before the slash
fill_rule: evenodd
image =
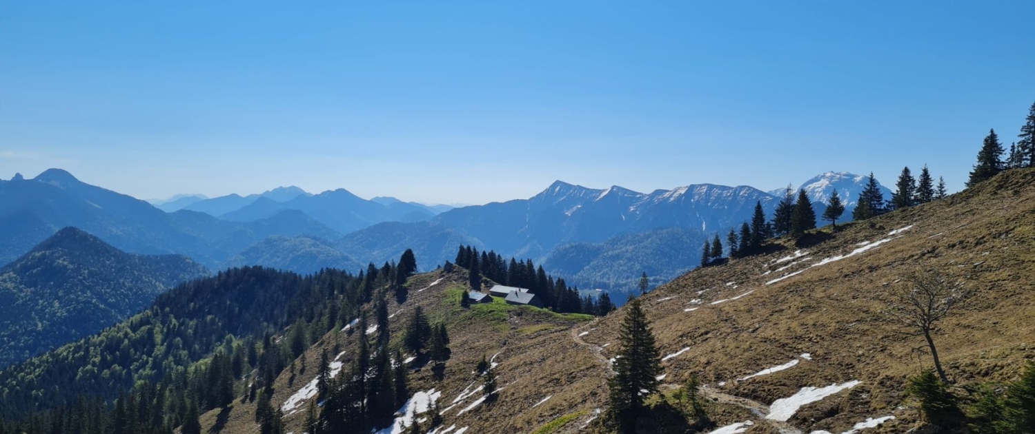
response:
<path id="1" fill-rule="evenodd" d="M 207 276 L 183 255 L 125 253 L 75 227 L 0 269 L 0 367 L 121 321 Z"/>

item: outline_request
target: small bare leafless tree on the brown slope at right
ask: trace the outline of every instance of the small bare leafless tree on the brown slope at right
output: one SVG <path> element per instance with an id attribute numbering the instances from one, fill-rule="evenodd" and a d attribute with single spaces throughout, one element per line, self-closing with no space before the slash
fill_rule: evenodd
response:
<path id="1" fill-rule="evenodd" d="M 917 270 L 904 276 L 887 297 L 886 317 L 904 329 L 899 333 L 923 336 L 935 360 L 935 370 L 944 382 L 949 379 L 942 369 L 931 336 L 939 333 L 940 320 L 954 313 L 973 296 L 973 290 L 950 276 Z"/>

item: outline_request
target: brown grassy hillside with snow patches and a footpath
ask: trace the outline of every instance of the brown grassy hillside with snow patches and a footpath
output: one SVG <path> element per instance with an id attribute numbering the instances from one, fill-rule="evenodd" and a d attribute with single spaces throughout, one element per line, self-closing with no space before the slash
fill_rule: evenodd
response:
<path id="1" fill-rule="evenodd" d="M 908 225 L 913 226 L 898 234 L 900 238 L 865 253 L 766 284 L 822 258 L 851 252 L 858 243 L 889 238 L 889 231 Z M 689 347 L 663 363 L 667 388 L 699 372 L 712 390 L 764 405 L 802 386 L 858 379 L 862 383 L 851 391 L 802 407 L 789 425 L 803 432 L 841 432 L 868 416 L 894 414 L 895 421 L 867 432 L 905 432 L 916 423 L 917 413 L 901 396 L 903 383 L 907 375 L 929 366 L 929 357 L 913 350 L 923 344 L 920 339 L 897 335 L 879 319 L 883 304 L 876 299 L 915 268 L 952 273 L 981 292 L 966 311 L 945 321 L 949 333 L 936 338 L 950 377 L 959 384 L 1012 378 L 1025 360 L 1035 358 L 1035 321 L 1030 320 L 1035 317 L 1035 171 L 1014 171 L 944 200 L 821 234 L 831 239 L 805 248 L 807 255 L 798 258 L 812 259 L 781 272 L 774 270 L 791 261 L 773 261 L 796 247 L 773 246 L 771 254 L 691 272 L 645 296 L 662 354 Z M 764 275 L 766 271 L 770 273 Z M 444 411 L 445 426 L 468 426 L 468 432 L 477 433 L 575 432 L 604 406 L 603 361 L 617 349 L 622 311 L 595 321 L 498 303 L 464 311 L 446 299 L 448 288 L 464 285 L 466 273 L 454 272 L 424 291 L 416 290 L 438 278 L 414 277 L 406 303 L 392 302 L 390 307 L 392 313 L 400 311 L 392 319 L 393 340 L 414 305 L 449 324 L 453 352 L 445 379 L 434 381 L 428 369 L 419 369 L 411 377 L 411 390 L 444 391 L 439 403 L 446 408 L 474 381 L 471 372 L 478 359 L 502 350 L 496 368 L 503 386 L 498 402 L 457 416 L 477 396 L 462 400 Z M 753 292 L 710 304 L 748 291 Z M 703 303 L 690 303 L 694 299 Z M 684 311 L 693 307 L 699 309 Z M 589 333 L 580 336 L 582 332 Z M 354 341 L 346 334 L 326 336 L 307 353 L 310 366 L 304 375 L 292 385 L 287 372 L 277 380 L 273 402 L 283 403 L 312 378 L 321 348 L 335 354 L 332 347 L 337 345 L 347 351 L 343 359 L 348 362 Z M 735 381 L 802 352 L 811 353 L 812 361 Z M 720 381 L 727 383 L 718 386 Z M 533 408 L 548 396 L 553 397 Z M 748 432 L 773 431 L 773 425 L 741 407 L 710 408 L 719 425 L 753 419 Z M 223 432 L 256 432 L 253 412 L 246 404 L 225 414 Z M 303 419 L 303 412 L 288 416 L 287 431 L 301 432 Z M 208 428 L 214 420 L 215 414 L 207 414 L 203 424 Z"/>

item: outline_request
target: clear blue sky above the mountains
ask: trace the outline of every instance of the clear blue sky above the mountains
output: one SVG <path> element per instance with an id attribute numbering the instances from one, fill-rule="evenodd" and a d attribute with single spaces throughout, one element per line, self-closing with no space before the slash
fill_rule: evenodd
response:
<path id="1" fill-rule="evenodd" d="M 492 3 L 492 4 L 490 4 Z M 777 4 L 781 3 L 781 4 Z M 0 2 L 0 177 L 428 203 L 962 188 L 1035 101 L 1035 2 Z"/>

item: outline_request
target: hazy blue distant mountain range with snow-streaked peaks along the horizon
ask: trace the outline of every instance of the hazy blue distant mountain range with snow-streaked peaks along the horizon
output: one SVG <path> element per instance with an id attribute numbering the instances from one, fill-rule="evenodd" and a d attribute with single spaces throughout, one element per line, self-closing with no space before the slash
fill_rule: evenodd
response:
<path id="1" fill-rule="evenodd" d="M 800 188 L 812 197 L 817 214 L 836 188 L 850 213 L 865 182 L 830 172 Z M 61 227 L 76 226 L 129 252 L 185 254 L 211 269 L 262 265 L 313 272 L 381 264 L 412 248 L 420 269 L 431 270 L 453 259 L 464 244 L 532 258 L 569 284 L 605 290 L 631 289 L 644 271 L 652 270 L 652 280 L 660 283 L 696 267 L 698 248 L 646 264 L 649 252 L 674 242 L 661 234 L 701 244 L 746 221 L 757 203 L 771 215 L 779 200 L 749 186 L 696 184 L 643 193 L 557 181 L 527 199 L 455 209 L 386 196 L 364 199 L 345 189 L 309 194 L 278 187 L 201 199 L 167 213 L 61 169 L 0 181 L 0 264 Z"/>

